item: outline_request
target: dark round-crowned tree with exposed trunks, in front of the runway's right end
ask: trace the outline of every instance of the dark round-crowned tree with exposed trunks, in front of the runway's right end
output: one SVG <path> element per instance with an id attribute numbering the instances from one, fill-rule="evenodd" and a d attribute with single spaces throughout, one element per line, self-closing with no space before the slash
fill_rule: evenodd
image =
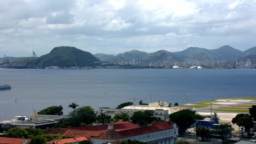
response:
<path id="1" fill-rule="evenodd" d="M 233 124 L 237 124 L 238 127 L 244 127 L 245 131 L 247 132 L 247 135 L 250 135 L 250 129 L 253 127 L 253 117 L 249 114 L 240 113 L 236 115 L 232 119 Z M 242 128 L 242 136 L 243 136 L 243 128 Z"/>

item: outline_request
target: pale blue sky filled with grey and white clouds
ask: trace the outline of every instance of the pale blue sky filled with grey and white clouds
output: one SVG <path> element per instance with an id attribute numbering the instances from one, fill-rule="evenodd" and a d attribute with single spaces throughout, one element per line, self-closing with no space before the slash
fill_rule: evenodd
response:
<path id="1" fill-rule="evenodd" d="M 256 46 L 256 0 L 0 0 L 0 57 Z"/>

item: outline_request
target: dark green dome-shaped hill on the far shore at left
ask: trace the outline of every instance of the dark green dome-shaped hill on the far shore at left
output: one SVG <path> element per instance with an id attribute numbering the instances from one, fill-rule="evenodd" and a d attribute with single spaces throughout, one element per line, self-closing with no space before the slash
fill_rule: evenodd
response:
<path id="1" fill-rule="evenodd" d="M 58 67 L 84 67 L 95 65 L 100 62 L 90 52 L 79 50 L 75 47 L 60 46 L 55 47 L 50 53 L 36 59 L 36 65 L 58 66 Z"/>

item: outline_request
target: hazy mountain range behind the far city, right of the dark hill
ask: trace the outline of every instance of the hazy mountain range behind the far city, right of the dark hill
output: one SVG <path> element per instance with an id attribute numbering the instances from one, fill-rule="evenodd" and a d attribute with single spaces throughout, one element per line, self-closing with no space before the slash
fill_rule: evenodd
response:
<path id="1" fill-rule="evenodd" d="M 132 50 L 120 53 L 117 56 L 105 55 L 97 53 L 95 56 L 101 61 L 118 63 L 120 61 L 132 62 L 136 59 L 141 59 L 143 62 L 157 61 L 232 61 L 237 57 L 253 58 L 256 55 L 256 47 L 252 47 L 246 51 L 240 51 L 229 45 L 224 45 L 218 49 L 208 50 L 200 47 L 189 47 L 186 50 L 179 52 L 169 52 L 160 50 L 153 53 Z"/>

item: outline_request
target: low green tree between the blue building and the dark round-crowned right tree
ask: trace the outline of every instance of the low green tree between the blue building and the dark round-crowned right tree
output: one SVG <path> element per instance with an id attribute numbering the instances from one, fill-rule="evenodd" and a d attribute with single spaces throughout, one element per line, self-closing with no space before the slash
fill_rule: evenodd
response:
<path id="1" fill-rule="evenodd" d="M 234 130 L 234 128 L 232 128 L 232 125 L 227 124 L 227 123 L 220 124 L 220 125 L 215 125 L 213 128 L 214 129 L 211 131 L 212 134 L 222 136 L 222 140 L 224 139 L 225 136 L 231 135 L 232 130 Z"/>

